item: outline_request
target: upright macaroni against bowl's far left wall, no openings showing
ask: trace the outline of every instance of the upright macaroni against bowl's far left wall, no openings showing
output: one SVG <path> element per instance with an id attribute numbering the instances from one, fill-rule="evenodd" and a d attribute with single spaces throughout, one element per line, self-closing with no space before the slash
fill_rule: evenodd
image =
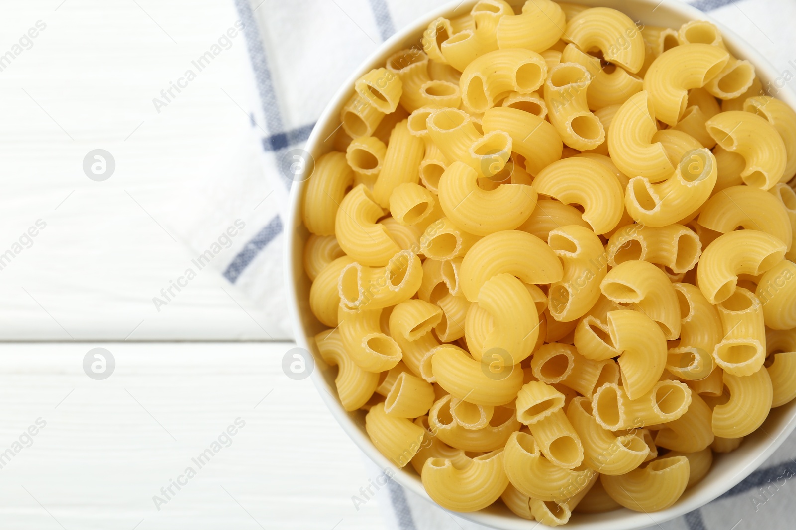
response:
<path id="1" fill-rule="evenodd" d="M 318 158 L 304 192 L 302 217 L 307 230 L 334 235 L 338 207 L 352 183 L 353 171 L 343 153 L 327 153 Z"/>

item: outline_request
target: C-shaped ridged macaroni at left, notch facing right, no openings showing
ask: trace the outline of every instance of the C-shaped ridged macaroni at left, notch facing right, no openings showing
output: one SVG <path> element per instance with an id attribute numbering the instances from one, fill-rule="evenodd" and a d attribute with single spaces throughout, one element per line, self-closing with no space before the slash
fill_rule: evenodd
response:
<path id="1" fill-rule="evenodd" d="M 341 200 L 335 220 L 338 244 L 362 265 L 387 265 L 400 252 L 384 226 L 377 223 L 382 215 L 384 210 L 365 184 L 353 188 Z"/>

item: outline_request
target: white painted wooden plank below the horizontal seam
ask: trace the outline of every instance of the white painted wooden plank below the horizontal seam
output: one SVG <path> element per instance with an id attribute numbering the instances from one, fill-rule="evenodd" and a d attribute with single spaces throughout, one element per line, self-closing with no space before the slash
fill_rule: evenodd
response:
<path id="1" fill-rule="evenodd" d="M 82 368 L 96 346 L 115 357 L 105 381 Z M 351 501 L 368 483 L 364 456 L 310 380 L 282 373 L 292 346 L 0 346 L 0 453 L 47 423 L 0 469 L 0 528 L 384 528 L 378 501 Z M 191 458 L 239 417 L 232 444 L 198 469 Z M 158 511 L 152 497 L 186 466 L 196 476 Z"/>

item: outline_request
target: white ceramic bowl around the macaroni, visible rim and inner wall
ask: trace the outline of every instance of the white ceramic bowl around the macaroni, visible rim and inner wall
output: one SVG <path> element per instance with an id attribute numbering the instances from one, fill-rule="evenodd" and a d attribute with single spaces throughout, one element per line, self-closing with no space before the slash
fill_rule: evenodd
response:
<path id="1" fill-rule="evenodd" d="M 476 0 L 453 0 L 446 6 L 432 11 L 425 17 L 419 18 L 413 24 L 408 25 L 388 41 L 384 42 L 376 52 L 360 68 L 349 77 L 343 84 L 334 99 L 326 106 L 318 125 L 315 126 L 310 139 L 307 142 L 306 150 L 318 160 L 322 154 L 334 149 L 333 140 L 324 141 L 326 137 L 340 125 L 340 110 L 347 99 L 353 93 L 353 83 L 365 72 L 372 68 L 384 66 L 386 58 L 402 48 L 410 48 L 412 45 L 420 46 L 420 38 L 427 25 L 437 17 L 449 17 L 466 14 L 474 5 Z M 508 0 L 515 6 L 521 6 L 525 0 Z M 709 20 L 719 26 L 724 35 L 724 42 L 728 49 L 736 56 L 750 60 L 755 65 L 757 74 L 763 80 L 763 86 L 768 82 L 773 82 L 778 75 L 775 68 L 763 59 L 754 48 L 740 39 L 735 33 L 720 25 L 711 17 L 702 13 L 691 6 L 678 2 L 678 0 L 573 0 L 587 6 L 606 6 L 621 10 L 634 21 L 641 21 L 646 25 L 657 25 L 677 28 L 684 22 L 690 20 Z M 455 14 L 454 14 L 455 13 Z M 791 107 L 796 108 L 796 96 L 790 91 L 782 90 L 777 94 L 778 99 L 784 100 Z M 287 219 L 285 228 L 286 233 L 286 252 L 285 252 L 285 282 L 287 284 L 287 296 L 290 305 L 291 319 L 298 346 L 310 350 L 314 355 L 316 369 L 312 374 L 312 379 L 318 389 L 318 393 L 326 402 L 332 415 L 338 420 L 343 430 L 353 439 L 354 443 L 360 447 L 365 454 L 376 462 L 381 469 L 390 467 L 394 469 L 392 463 L 384 458 L 377 451 L 373 443 L 365 432 L 365 414 L 359 411 L 349 414 L 341 407 L 336 397 L 334 387 L 334 375 L 336 369 L 326 366 L 318 355 L 312 337 L 322 331 L 325 327 L 318 322 L 312 315 L 309 304 L 310 279 L 304 273 L 302 265 L 302 252 L 304 244 L 309 237 L 309 232 L 302 226 L 300 199 L 306 185 L 306 181 L 296 183 L 291 190 L 290 215 Z M 607 513 L 572 515 L 570 522 L 564 527 L 569 530 L 631 530 L 634 528 L 644 528 L 665 520 L 673 519 L 697 509 L 707 504 L 712 499 L 719 497 L 722 493 L 735 486 L 738 482 L 746 478 L 762 464 L 771 453 L 786 439 L 787 435 L 796 427 L 796 400 L 791 401 L 782 407 L 775 408 L 769 414 L 763 426 L 757 431 L 747 436 L 739 449 L 727 455 L 716 455 L 713 466 L 708 475 L 696 486 L 686 491 L 681 499 L 671 508 L 654 513 L 638 513 L 629 509 L 618 509 Z M 407 466 L 399 471 L 394 479 L 402 486 L 424 497 L 429 502 L 431 499 L 423 489 L 419 475 L 415 473 L 412 466 Z M 529 521 L 521 519 L 509 512 L 500 503 L 490 506 L 474 513 L 459 513 L 458 515 L 466 519 L 473 520 L 480 524 L 486 524 L 495 528 L 505 530 L 527 530 Z M 441 508 L 440 508 L 441 509 Z M 539 528 L 547 528 L 540 525 Z"/>

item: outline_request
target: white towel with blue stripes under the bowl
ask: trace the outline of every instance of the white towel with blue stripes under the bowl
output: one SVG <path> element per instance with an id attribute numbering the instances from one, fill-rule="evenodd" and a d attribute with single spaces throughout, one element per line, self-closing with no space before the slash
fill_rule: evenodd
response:
<path id="1" fill-rule="evenodd" d="M 678 0 L 662 0 L 677 2 Z M 254 187 L 271 189 L 278 200 L 256 215 L 256 236 L 240 242 L 222 268 L 224 277 L 267 308 L 289 336 L 281 276 L 281 232 L 291 181 L 279 169 L 289 149 L 301 147 L 334 92 L 357 65 L 396 28 L 442 6 L 445 0 L 235 0 L 252 60 L 252 97 L 244 110 L 251 127 L 236 143 L 235 167 L 205 194 L 203 209 L 223 211 L 213 219 L 235 218 L 236 194 Z M 788 21 L 796 20 L 794 0 L 695 0 L 767 56 L 782 79 L 794 78 L 796 39 Z M 790 75 L 786 75 L 790 74 Z M 794 89 L 793 86 L 790 87 Z M 252 141 L 256 137 L 256 141 Z M 218 172 L 213 172 L 215 175 Z M 254 176 L 254 177 L 252 177 Z M 264 183 L 264 184 L 263 184 Z M 215 206 L 213 201 L 216 201 Z M 208 229 L 213 219 L 197 214 Z M 198 232 L 199 230 L 196 230 Z M 217 230 L 210 230 L 216 233 Z M 201 247 L 200 247 L 201 248 Z M 796 436 L 738 486 L 702 509 L 651 528 L 663 530 L 743 530 L 794 528 Z M 380 473 L 373 469 L 373 476 Z M 452 516 L 405 491 L 395 482 L 380 489 L 388 528 L 431 530 L 484 528 Z M 533 523 L 529 523 L 533 528 Z"/>

